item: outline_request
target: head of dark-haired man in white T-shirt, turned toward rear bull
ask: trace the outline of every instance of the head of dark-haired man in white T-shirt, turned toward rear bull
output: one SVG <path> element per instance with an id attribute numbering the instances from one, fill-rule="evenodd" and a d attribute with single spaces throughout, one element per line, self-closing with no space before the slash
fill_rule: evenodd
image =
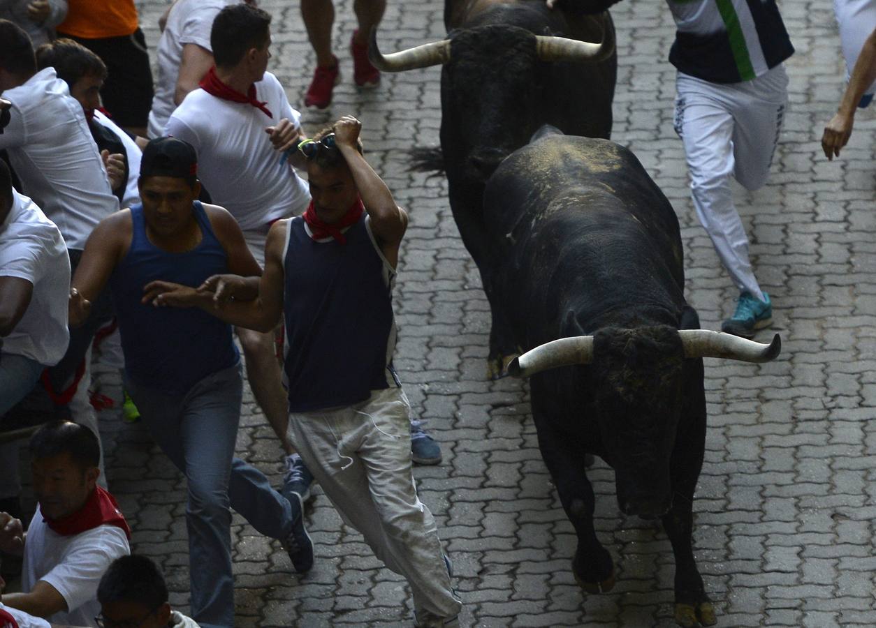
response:
<path id="1" fill-rule="evenodd" d="M 233 4 L 219 11 L 210 31 L 216 67 L 243 64 L 253 82 L 261 80 L 271 57 L 271 15 L 249 4 Z"/>

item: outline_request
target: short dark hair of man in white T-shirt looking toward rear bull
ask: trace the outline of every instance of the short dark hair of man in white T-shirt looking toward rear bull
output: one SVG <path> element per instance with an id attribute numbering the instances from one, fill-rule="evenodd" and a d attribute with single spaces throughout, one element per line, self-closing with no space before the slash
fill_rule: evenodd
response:
<path id="1" fill-rule="evenodd" d="M 219 11 L 210 30 L 216 66 L 235 66 L 246 51 L 267 43 L 271 14 L 249 4 L 232 4 Z"/>

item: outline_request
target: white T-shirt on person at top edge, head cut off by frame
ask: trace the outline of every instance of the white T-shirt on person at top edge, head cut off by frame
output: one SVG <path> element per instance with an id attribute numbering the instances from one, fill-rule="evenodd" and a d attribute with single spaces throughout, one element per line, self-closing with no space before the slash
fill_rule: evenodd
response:
<path id="1" fill-rule="evenodd" d="M 167 118 L 173 114 L 176 103 L 176 81 L 180 76 L 182 49 L 187 44 L 200 45 L 213 52 L 210 45 L 210 29 L 219 11 L 241 0 L 177 0 L 167 16 L 167 25 L 161 33 L 158 47 L 159 76 L 155 81 L 152 96 L 152 111 L 149 112 L 150 138 L 164 134 Z"/>

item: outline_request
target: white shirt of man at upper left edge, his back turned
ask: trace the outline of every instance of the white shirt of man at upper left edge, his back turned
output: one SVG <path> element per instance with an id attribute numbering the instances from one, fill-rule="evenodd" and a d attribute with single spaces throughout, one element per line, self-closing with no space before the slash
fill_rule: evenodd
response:
<path id="1" fill-rule="evenodd" d="M 7 89 L 11 121 L 0 135 L 25 192 L 53 221 L 67 248 L 83 249 L 97 223 L 117 211 L 82 106 L 53 67 Z"/>

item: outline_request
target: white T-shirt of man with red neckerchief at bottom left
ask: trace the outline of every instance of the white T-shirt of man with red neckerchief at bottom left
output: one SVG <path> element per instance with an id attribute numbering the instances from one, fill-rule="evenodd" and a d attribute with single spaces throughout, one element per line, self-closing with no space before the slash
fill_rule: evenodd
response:
<path id="1" fill-rule="evenodd" d="M 66 613 L 55 613 L 53 624 L 95 626 L 101 612 L 97 585 L 109 563 L 131 554 L 128 537 L 116 526 L 98 526 L 73 536 L 53 532 L 39 510 L 27 528 L 21 590 L 25 593 L 42 580 L 51 584 L 67 602 Z"/>

